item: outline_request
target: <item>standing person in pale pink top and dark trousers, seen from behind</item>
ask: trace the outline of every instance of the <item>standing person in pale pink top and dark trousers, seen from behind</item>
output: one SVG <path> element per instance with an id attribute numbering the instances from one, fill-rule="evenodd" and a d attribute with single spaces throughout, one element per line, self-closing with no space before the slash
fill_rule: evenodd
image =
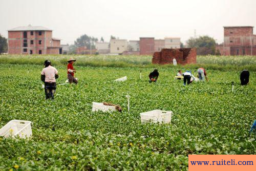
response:
<path id="1" fill-rule="evenodd" d="M 56 68 L 51 66 L 50 60 L 45 61 L 45 68 L 41 72 L 41 80 L 45 82 L 46 99 L 54 99 L 56 79 L 59 77 Z"/>

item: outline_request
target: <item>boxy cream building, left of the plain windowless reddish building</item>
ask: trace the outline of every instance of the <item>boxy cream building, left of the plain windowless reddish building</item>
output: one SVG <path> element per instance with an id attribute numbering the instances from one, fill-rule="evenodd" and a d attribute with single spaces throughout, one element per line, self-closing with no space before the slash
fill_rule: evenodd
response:
<path id="1" fill-rule="evenodd" d="M 110 40 L 110 53 L 122 54 L 127 51 L 128 41 L 125 39 L 111 39 Z"/>

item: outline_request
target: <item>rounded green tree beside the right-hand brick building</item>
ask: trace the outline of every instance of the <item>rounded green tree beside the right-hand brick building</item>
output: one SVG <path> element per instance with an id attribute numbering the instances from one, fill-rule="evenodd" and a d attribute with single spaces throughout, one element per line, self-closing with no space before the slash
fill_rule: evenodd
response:
<path id="1" fill-rule="evenodd" d="M 187 47 L 197 48 L 198 55 L 215 55 L 216 42 L 214 38 L 209 36 L 191 37 L 187 40 Z"/>

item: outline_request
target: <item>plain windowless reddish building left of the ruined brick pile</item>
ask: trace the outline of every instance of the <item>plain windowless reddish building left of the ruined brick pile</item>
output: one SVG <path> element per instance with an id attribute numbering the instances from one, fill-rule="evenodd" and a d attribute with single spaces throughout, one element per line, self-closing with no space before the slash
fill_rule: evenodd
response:
<path id="1" fill-rule="evenodd" d="M 140 55 L 153 55 L 154 52 L 154 37 L 140 37 Z"/>

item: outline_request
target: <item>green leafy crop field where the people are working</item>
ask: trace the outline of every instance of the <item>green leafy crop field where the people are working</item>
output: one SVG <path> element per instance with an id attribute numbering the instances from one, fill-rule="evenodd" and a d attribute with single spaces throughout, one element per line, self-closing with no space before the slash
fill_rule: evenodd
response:
<path id="1" fill-rule="evenodd" d="M 48 56 L 23 57 L 34 64 L 19 62 L 22 56 L 0 57 L 0 127 L 12 119 L 29 120 L 33 136 L 0 137 L 0 170 L 187 170 L 189 154 L 256 154 L 256 136 L 249 134 L 256 119 L 255 57 L 236 66 L 230 57 L 230 68 L 221 64 L 223 57 L 219 63 L 202 57 L 202 64 L 177 67 L 128 65 L 129 57 L 122 59 L 127 66 L 119 67 L 92 67 L 78 60 L 78 85 L 57 85 L 54 101 L 45 100 L 40 81 Z M 57 84 L 67 79 L 68 57 L 51 58 L 59 71 Z M 195 73 L 199 65 L 208 65 L 208 82 L 184 87 L 174 79 L 178 69 Z M 240 86 L 240 69 L 248 66 L 250 82 Z M 160 75 L 150 84 L 153 67 Z M 114 81 L 123 76 L 128 79 Z M 92 112 L 93 101 L 119 104 L 123 111 Z M 141 123 L 140 113 L 155 109 L 173 111 L 172 122 Z"/>

